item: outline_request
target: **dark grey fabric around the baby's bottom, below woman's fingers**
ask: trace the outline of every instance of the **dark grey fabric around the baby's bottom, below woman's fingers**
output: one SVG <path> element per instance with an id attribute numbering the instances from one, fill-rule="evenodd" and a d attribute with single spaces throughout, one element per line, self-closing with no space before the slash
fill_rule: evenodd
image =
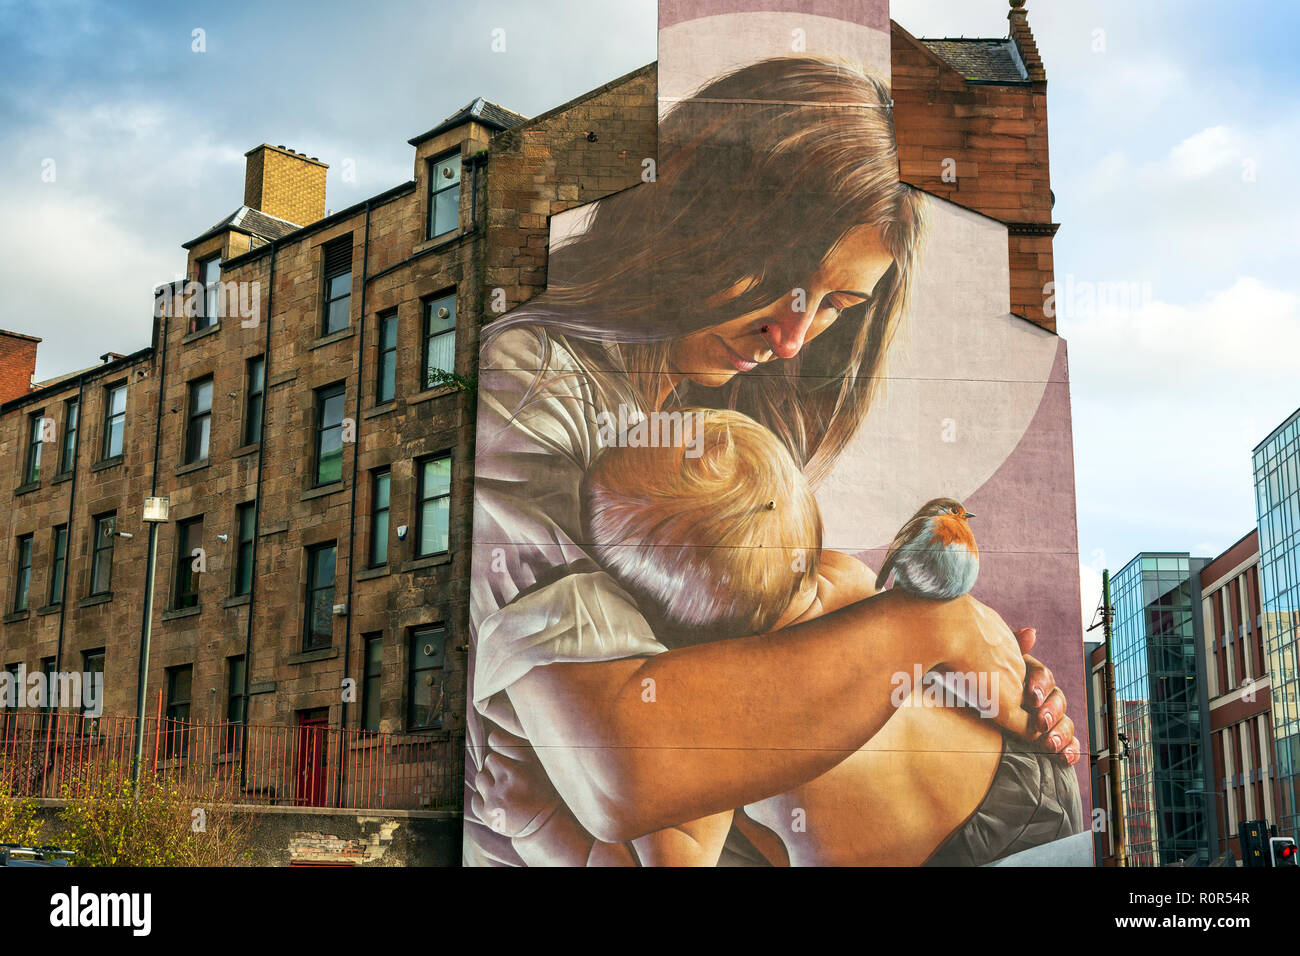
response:
<path id="1" fill-rule="evenodd" d="M 926 866 L 983 866 L 1082 831 L 1083 805 L 1074 767 L 1006 739 L 984 800 Z"/>

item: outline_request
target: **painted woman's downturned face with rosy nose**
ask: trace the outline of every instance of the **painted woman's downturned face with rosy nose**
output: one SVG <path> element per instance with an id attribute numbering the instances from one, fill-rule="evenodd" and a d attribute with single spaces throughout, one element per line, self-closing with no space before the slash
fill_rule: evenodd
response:
<path id="1" fill-rule="evenodd" d="M 766 362 L 794 358 L 840 312 L 871 298 L 892 264 L 893 256 L 876 229 L 852 229 L 802 286 L 754 312 L 679 338 L 668 352 L 668 364 L 675 375 L 718 388 Z M 746 287 L 728 289 L 718 303 L 741 295 Z"/>

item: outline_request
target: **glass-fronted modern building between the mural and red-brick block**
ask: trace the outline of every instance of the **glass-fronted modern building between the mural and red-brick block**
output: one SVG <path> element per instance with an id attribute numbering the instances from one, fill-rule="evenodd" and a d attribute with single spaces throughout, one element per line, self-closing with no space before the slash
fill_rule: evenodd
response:
<path id="1" fill-rule="evenodd" d="M 1202 562 L 1139 554 L 1110 583 L 1130 866 L 1209 861 L 1197 610 Z M 1188 792 L 1192 791 L 1192 792 Z"/>

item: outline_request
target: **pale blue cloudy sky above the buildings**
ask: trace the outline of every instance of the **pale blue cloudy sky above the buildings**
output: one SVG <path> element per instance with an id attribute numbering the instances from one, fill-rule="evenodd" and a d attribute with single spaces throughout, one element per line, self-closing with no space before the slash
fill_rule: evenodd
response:
<path id="1" fill-rule="evenodd" d="M 892 16 L 916 36 L 1002 36 L 1006 9 Z M 153 287 L 239 206 L 251 147 L 329 163 L 342 209 L 412 178 L 406 140 L 476 96 L 534 116 L 655 59 L 654 0 L 360 10 L 0 0 L 0 328 L 44 338 L 38 378 L 148 345 Z M 1213 557 L 1251 531 L 1251 449 L 1300 406 L 1300 4 L 1030 0 L 1028 17 L 1087 622 L 1104 567 Z"/>

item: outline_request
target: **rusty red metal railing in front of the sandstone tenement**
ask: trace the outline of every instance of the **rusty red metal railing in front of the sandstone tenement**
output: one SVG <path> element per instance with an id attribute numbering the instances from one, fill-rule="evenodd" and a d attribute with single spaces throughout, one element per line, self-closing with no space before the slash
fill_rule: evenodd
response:
<path id="1" fill-rule="evenodd" d="M 134 732 L 134 717 L 0 710 L 0 783 L 21 797 L 94 791 L 130 774 Z M 144 718 L 142 773 L 218 803 L 459 810 L 463 761 L 455 739 L 417 734 Z"/>

